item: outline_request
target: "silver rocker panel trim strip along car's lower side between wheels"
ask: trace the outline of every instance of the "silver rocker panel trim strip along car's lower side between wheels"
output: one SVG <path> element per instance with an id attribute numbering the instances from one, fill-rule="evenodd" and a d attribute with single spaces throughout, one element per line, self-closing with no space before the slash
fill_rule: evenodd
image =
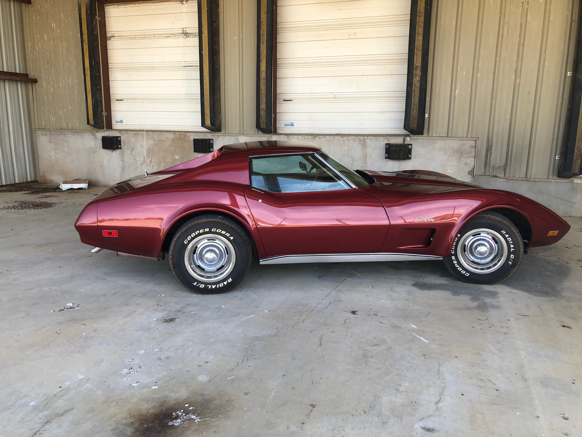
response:
<path id="1" fill-rule="evenodd" d="M 299 263 L 346 263 L 374 261 L 432 261 L 442 256 L 416 255 L 414 253 L 318 253 L 315 255 L 281 255 L 263 258 L 260 264 L 299 264 Z"/>

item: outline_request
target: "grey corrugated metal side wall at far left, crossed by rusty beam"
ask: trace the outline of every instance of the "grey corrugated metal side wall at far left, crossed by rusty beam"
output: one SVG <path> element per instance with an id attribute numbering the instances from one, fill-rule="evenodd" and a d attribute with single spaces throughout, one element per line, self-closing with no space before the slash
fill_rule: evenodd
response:
<path id="1" fill-rule="evenodd" d="M 26 73 L 22 3 L 0 0 L 0 71 Z M 34 179 L 27 82 L 0 80 L 0 185 Z"/>

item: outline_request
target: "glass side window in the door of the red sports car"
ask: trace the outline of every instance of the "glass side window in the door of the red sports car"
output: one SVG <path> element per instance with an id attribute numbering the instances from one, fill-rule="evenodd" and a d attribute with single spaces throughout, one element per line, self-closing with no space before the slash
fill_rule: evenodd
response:
<path id="1" fill-rule="evenodd" d="M 313 155 L 281 155 L 251 160 L 251 184 L 275 193 L 352 188 Z"/>

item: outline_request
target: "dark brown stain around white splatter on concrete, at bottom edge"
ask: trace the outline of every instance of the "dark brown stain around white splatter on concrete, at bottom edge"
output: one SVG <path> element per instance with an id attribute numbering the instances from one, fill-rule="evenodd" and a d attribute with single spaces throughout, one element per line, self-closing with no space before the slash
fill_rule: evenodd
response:
<path id="1" fill-rule="evenodd" d="M 180 401 L 164 401 L 156 407 L 132 408 L 126 416 L 123 428 L 129 428 L 131 437 L 168 437 L 168 436 L 197 436 L 213 435 L 209 430 L 217 425 L 229 414 L 233 407 L 233 401 L 228 398 L 215 399 L 212 397 L 184 397 Z M 188 407 L 186 407 L 188 404 Z M 193 407 L 192 410 L 189 410 Z M 194 419 L 187 419 L 180 425 L 169 425 L 169 422 L 176 420 L 173 413 L 183 411 L 184 413 L 193 413 L 202 420 L 196 422 Z"/>

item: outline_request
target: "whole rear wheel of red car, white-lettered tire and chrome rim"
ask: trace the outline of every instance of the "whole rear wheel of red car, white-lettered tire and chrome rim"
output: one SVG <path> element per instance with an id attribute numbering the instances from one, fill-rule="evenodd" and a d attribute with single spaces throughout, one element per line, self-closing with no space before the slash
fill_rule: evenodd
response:
<path id="1" fill-rule="evenodd" d="M 244 279 L 253 251 L 246 233 L 230 218 L 204 214 L 180 227 L 169 250 L 178 282 L 201 294 L 232 290 Z"/>

